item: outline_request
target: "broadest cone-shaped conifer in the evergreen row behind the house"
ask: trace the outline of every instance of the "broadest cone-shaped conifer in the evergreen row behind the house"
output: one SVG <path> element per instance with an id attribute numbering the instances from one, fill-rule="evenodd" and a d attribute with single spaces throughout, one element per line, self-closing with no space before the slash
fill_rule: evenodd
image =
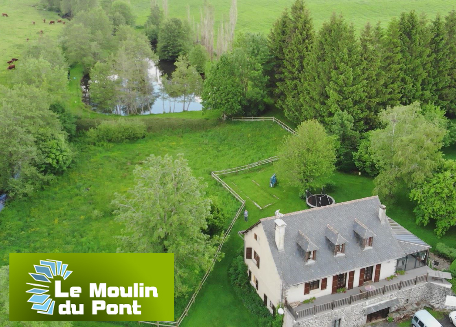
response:
<path id="1" fill-rule="evenodd" d="M 337 111 L 345 111 L 353 117 L 354 129 L 362 131 L 368 114 L 362 66 L 353 26 L 332 15 L 321 27 L 306 65 L 302 118 L 328 124 Z"/>

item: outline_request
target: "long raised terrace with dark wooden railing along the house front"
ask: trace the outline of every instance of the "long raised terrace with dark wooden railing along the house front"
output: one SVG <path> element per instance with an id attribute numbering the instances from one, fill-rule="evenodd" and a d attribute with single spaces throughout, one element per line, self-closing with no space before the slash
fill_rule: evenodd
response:
<path id="1" fill-rule="evenodd" d="M 329 310 L 334 310 L 339 307 L 349 306 L 353 303 L 366 301 L 373 297 L 380 297 L 384 294 L 401 290 L 407 287 L 413 287 L 416 284 L 427 281 L 428 267 L 420 267 L 407 271 L 404 275 L 397 275 L 393 280 L 380 280 L 378 282 L 369 283 L 375 287 L 372 291 L 366 291 L 366 284 L 361 287 L 353 287 L 345 293 L 329 294 L 322 297 L 317 297 L 313 303 L 302 303 L 298 306 L 293 306 L 285 299 L 285 308 L 290 312 L 295 320 L 301 320 L 304 317 L 318 315 Z"/>

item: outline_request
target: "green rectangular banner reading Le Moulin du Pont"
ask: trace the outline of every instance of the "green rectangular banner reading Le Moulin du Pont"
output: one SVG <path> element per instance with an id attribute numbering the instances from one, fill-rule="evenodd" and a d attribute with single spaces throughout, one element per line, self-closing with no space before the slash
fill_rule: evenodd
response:
<path id="1" fill-rule="evenodd" d="M 10 253 L 10 321 L 174 321 L 174 253 Z"/>

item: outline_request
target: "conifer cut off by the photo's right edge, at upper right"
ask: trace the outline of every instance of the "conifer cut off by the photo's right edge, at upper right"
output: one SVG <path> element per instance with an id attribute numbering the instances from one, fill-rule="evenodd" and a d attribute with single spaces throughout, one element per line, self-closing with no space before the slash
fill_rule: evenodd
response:
<path id="1" fill-rule="evenodd" d="M 448 101 L 447 112 L 456 114 L 456 11 L 452 10 L 445 17 L 446 43 L 448 45 L 449 84 L 442 91 L 442 98 Z"/>

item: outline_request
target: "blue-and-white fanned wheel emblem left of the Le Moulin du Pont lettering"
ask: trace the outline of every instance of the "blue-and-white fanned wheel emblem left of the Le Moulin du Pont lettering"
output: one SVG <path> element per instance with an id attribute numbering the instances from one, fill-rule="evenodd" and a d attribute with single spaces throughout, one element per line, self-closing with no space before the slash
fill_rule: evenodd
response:
<path id="1" fill-rule="evenodd" d="M 35 272 L 29 272 L 29 275 L 36 282 L 52 283 L 50 279 L 54 279 L 54 276 L 60 276 L 63 280 L 66 280 L 71 275 L 72 271 L 67 270 L 68 265 L 57 260 L 40 260 L 40 265 L 33 265 Z M 60 281 L 56 280 L 56 283 L 60 286 Z M 51 295 L 45 294 L 49 292 L 49 285 L 26 283 L 34 286 L 26 293 L 32 293 L 33 295 L 27 300 L 27 302 L 33 303 L 31 308 L 36 310 L 37 313 L 46 315 L 52 315 L 54 313 L 55 301 L 52 300 Z M 45 288 L 38 288 L 45 287 Z"/>

